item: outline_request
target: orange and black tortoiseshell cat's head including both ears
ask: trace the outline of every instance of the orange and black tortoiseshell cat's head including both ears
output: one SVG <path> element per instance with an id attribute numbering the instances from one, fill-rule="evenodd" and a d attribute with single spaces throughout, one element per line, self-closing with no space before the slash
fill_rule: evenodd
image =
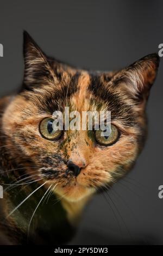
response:
<path id="1" fill-rule="evenodd" d="M 117 72 L 77 70 L 49 59 L 24 34 L 21 92 L 3 116 L 7 145 L 38 182 L 77 201 L 116 182 L 133 166 L 146 137 L 145 107 L 159 65 L 157 54 Z M 53 131 L 53 112 L 110 111 L 111 135 Z M 35 170 L 33 169 L 35 168 Z"/>

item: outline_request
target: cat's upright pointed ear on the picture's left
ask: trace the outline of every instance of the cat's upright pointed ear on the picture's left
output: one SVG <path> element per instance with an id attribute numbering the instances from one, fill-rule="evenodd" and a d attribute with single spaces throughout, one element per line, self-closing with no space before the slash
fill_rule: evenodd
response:
<path id="1" fill-rule="evenodd" d="M 54 82 L 54 72 L 48 63 L 46 55 L 34 42 L 32 37 L 24 31 L 24 89 L 32 89 L 42 84 Z"/>

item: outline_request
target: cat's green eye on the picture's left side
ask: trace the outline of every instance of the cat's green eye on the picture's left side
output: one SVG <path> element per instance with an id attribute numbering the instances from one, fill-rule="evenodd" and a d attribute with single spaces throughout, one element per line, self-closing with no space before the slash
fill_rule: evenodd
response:
<path id="1" fill-rule="evenodd" d="M 49 140 L 54 140 L 58 139 L 62 135 L 61 130 L 54 130 L 53 129 L 53 121 L 54 119 L 52 118 L 45 118 L 41 121 L 40 123 L 40 134 L 42 135 L 43 138 L 49 139 Z"/>

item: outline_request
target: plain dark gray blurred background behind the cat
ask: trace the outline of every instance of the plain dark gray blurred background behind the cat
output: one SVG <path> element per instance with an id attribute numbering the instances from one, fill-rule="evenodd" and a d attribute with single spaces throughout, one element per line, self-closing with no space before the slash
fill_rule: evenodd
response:
<path id="1" fill-rule="evenodd" d="M 163 43 L 162 1 L 1 1 L 0 8 L 1 95 L 21 84 L 23 29 L 47 54 L 98 70 L 122 68 Z M 127 178 L 95 196 L 72 244 L 163 244 L 162 68 L 149 97 L 145 149 Z"/>

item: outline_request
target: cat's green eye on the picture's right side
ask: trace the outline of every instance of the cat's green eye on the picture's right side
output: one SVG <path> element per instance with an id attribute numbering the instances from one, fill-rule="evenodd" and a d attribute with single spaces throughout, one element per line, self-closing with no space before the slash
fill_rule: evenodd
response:
<path id="1" fill-rule="evenodd" d="M 109 136 L 102 136 L 101 133 L 102 133 L 102 130 L 98 130 L 95 132 L 96 141 L 99 144 L 106 145 L 106 146 L 114 144 L 117 141 L 119 136 L 118 129 L 116 128 L 116 126 L 112 124 L 111 124 L 111 131 Z"/>

